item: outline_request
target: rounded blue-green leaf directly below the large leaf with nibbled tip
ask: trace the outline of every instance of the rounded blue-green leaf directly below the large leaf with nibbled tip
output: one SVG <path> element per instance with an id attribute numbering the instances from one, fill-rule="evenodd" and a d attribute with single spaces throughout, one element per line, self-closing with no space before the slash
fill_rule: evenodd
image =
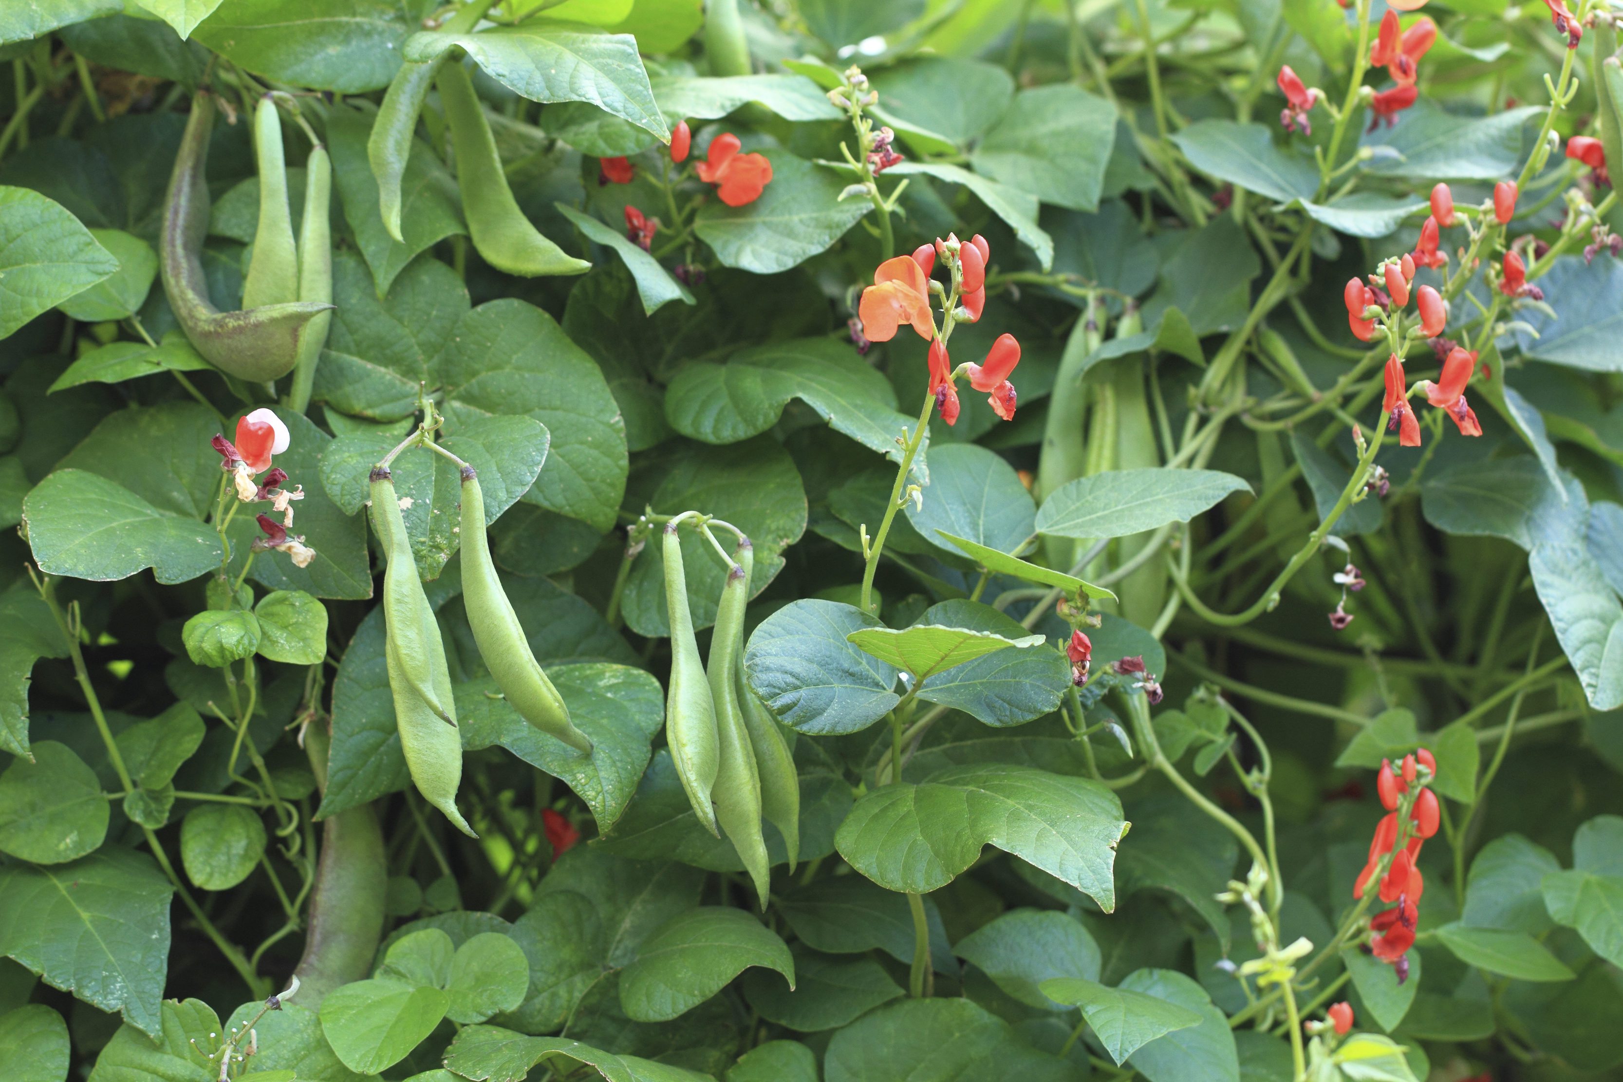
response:
<path id="1" fill-rule="evenodd" d="M 1099 980 L 1099 944 L 1083 923 L 1052 910 L 1016 908 L 982 925 L 953 947 L 992 981 L 1031 1007 L 1061 1009 L 1040 991 L 1047 980 Z"/>

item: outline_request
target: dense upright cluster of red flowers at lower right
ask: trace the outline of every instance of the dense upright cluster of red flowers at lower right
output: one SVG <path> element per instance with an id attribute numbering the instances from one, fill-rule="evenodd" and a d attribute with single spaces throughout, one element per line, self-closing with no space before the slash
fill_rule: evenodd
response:
<path id="1" fill-rule="evenodd" d="M 1423 777 L 1422 769 L 1425 771 Z M 1370 921 L 1368 951 L 1397 970 L 1399 985 L 1409 978 L 1407 952 L 1415 941 L 1420 895 L 1425 894 L 1425 878 L 1415 861 L 1420 858 L 1425 839 L 1436 834 L 1441 816 L 1436 793 L 1427 788 L 1427 784 L 1435 777 L 1436 759 L 1425 748 L 1404 756 L 1399 771 L 1393 771 L 1391 759 L 1381 761 L 1375 787 L 1388 814 L 1375 827 L 1370 861 L 1352 887 L 1352 897 L 1363 899 L 1371 881 L 1380 874 L 1381 865 L 1396 852 L 1386 874 L 1381 876 L 1380 899 L 1397 902 L 1397 905 L 1376 913 Z M 1402 816 L 1401 806 L 1407 806 L 1407 818 Z"/>

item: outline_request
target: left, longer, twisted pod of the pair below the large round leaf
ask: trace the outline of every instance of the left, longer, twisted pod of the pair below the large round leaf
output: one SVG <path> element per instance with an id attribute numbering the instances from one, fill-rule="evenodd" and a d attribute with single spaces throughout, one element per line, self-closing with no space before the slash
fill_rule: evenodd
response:
<path id="1" fill-rule="evenodd" d="M 385 660 L 394 720 L 411 780 L 424 800 L 445 813 L 456 829 L 479 837 L 456 809 L 463 784 L 463 736 L 456 730 L 451 670 L 445 662 L 440 625 L 417 577 L 406 519 L 386 469 L 372 470 L 372 521 L 388 553 L 383 573 Z"/>

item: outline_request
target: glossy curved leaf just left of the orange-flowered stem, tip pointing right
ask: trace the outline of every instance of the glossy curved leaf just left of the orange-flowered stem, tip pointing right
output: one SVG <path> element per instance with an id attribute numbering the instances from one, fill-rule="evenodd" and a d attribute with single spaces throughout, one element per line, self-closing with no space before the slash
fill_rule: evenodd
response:
<path id="1" fill-rule="evenodd" d="M 917 423 L 896 410 L 896 391 L 885 375 L 828 337 L 747 349 L 725 365 L 688 365 L 665 389 L 665 417 L 683 436 L 738 443 L 776 425 L 790 399 L 898 464 L 902 449 L 896 438 Z M 912 470 L 928 479 L 923 454 L 920 446 Z"/>

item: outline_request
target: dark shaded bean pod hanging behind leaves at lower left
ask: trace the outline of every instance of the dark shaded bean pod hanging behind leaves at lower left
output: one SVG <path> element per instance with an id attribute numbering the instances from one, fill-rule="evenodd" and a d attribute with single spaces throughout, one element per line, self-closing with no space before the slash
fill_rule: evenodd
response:
<path id="1" fill-rule="evenodd" d="M 305 754 L 316 787 L 326 792 L 326 756 L 333 745 L 321 720 L 305 728 Z M 372 805 L 321 821 L 321 858 L 310 889 L 310 918 L 299 975 L 299 1004 L 312 1011 L 339 985 L 365 980 L 383 938 L 390 871 L 383 832 Z"/>

